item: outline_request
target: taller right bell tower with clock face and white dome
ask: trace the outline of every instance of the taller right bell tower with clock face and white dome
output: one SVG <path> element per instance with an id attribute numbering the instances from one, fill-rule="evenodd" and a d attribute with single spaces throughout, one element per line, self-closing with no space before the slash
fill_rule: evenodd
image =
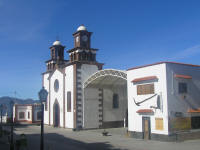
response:
<path id="1" fill-rule="evenodd" d="M 91 35 L 84 25 L 73 34 L 74 48 L 69 50 L 70 62 L 96 62 L 97 49 L 91 48 Z"/>

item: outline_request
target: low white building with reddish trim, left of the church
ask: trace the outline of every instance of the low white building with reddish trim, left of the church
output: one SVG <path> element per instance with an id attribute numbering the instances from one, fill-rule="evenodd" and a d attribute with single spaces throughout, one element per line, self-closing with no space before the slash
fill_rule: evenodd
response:
<path id="1" fill-rule="evenodd" d="M 41 121 L 40 104 L 15 104 L 13 107 L 14 122 L 39 123 Z"/>

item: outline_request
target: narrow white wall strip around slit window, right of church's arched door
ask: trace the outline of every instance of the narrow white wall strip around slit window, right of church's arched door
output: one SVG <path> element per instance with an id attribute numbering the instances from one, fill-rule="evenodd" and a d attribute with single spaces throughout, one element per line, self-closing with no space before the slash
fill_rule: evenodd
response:
<path id="1" fill-rule="evenodd" d="M 74 67 L 70 65 L 65 68 L 65 127 L 74 127 Z M 67 112 L 67 92 L 71 92 L 71 112 Z"/>

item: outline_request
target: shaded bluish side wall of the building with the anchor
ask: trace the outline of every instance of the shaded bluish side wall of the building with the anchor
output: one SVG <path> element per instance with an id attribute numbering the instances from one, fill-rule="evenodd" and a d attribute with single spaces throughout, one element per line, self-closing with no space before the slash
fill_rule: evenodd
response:
<path id="1" fill-rule="evenodd" d="M 175 74 L 189 75 L 192 79 L 175 78 Z M 167 90 L 168 90 L 168 108 L 170 118 L 174 118 L 175 112 L 182 112 L 183 117 L 190 116 L 187 113 L 192 107 L 200 108 L 200 68 L 179 65 L 167 64 Z M 187 83 L 188 93 L 184 99 L 178 92 L 178 83 Z M 199 114 L 200 116 L 200 114 Z"/>

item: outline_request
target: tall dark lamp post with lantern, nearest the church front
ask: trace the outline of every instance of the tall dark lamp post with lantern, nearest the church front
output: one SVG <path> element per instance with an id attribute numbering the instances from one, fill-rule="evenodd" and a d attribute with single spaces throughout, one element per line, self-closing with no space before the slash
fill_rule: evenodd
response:
<path id="1" fill-rule="evenodd" d="M 41 102 L 41 136 L 40 136 L 40 150 L 44 150 L 44 104 L 47 101 L 48 92 L 44 87 L 39 91 L 38 96 Z"/>

